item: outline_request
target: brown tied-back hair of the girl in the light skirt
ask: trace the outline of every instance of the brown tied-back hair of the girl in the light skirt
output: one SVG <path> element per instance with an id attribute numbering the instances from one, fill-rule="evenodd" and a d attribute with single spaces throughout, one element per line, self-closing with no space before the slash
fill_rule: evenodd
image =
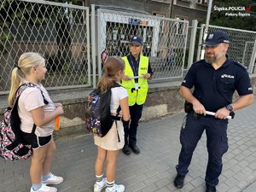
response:
<path id="1" fill-rule="evenodd" d="M 116 73 L 125 69 L 125 61 L 117 56 L 109 56 L 108 60 L 104 64 L 104 74 L 102 79 L 99 80 L 97 85 L 98 90 L 101 93 L 111 89 L 113 84 L 117 81 Z"/>

